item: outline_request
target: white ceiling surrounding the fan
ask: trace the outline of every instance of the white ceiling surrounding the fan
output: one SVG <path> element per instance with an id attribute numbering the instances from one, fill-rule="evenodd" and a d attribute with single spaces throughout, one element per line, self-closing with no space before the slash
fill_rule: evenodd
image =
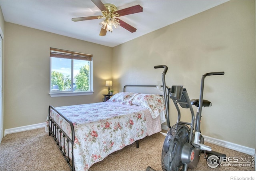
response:
<path id="1" fill-rule="evenodd" d="M 91 0 L 0 0 L 6 22 L 36 28 L 88 42 L 114 47 L 228 0 L 102 0 L 124 9 L 140 4 L 143 12 L 121 16 L 134 26 L 134 33 L 119 26 L 106 36 L 99 36 L 102 21 L 73 22 L 71 18 L 102 15 Z"/>

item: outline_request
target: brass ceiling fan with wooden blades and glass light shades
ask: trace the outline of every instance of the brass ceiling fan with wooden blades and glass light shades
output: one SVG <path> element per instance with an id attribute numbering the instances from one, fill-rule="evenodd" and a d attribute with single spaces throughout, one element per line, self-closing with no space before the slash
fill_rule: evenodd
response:
<path id="1" fill-rule="evenodd" d="M 112 32 L 112 26 L 115 28 L 121 26 L 130 32 L 135 32 L 137 29 L 127 24 L 126 22 L 120 20 L 117 17 L 125 16 L 128 14 L 134 14 L 142 12 L 143 8 L 140 5 L 131 6 L 122 10 L 117 10 L 114 4 L 106 3 L 103 4 L 100 0 L 92 0 L 92 2 L 102 11 L 102 16 L 87 16 L 81 18 L 72 18 L 72 21 L 84 21 L 84 20 L 93 20 L 93 19 L 102 19 L 104 20 L 100 23 L 101 30 L 100 36 L 105 36 L 107 31 Z"/>

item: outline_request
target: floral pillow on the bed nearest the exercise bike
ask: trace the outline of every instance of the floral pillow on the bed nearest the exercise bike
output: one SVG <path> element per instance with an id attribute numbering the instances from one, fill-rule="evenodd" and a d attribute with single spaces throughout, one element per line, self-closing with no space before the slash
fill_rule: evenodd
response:
<path id="1" fill-rule="evenodd" d="M 150 111 L 152 118 L 159 116 L 165 110 L 164 98 L 157 94 L 136 94 L 131 105 L 141 106 Z"/>

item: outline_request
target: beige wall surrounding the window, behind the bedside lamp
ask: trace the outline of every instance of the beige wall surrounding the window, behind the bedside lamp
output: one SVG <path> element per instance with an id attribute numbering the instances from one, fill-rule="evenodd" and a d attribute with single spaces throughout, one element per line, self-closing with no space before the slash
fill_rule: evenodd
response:
<path id="1" fill-rule="evenodd" d="M 5 23 L 4 129 L 46 122 L 48 106 L 102 101 L 112 78 L 112 48 Z M 51 98 L 50 47 L 93 55 L 93 95 Z"/>

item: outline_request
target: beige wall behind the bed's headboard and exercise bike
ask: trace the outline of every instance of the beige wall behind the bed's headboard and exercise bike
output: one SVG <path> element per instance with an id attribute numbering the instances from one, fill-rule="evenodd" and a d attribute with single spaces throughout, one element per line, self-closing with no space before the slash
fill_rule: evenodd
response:
<path id="1" fill-rule="evenodd" d="M 224 76 L 205 79 L 202 111 L 205 136 L 255 148 L 255 1 L 230 1 L 113 48 L 113 84 L 184 85 L 190 99 L 199 98 L 206 72 Z M 185 109 L 186 110 L 186 109 Z M 171 103 L 170 124 L 177 119 Z M 183 120 L 190 121 L 188 111 Z"/>

